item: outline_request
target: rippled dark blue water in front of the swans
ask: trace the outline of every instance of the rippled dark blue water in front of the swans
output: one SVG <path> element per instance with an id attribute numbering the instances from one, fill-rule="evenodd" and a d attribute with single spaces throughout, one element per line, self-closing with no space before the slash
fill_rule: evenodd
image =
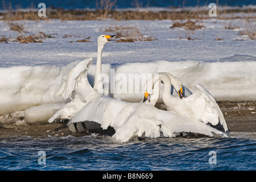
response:
<path id="1" fill-rule="evenodd" d="M 241 136 L 128 143 L 106 136 L 10 137 L 0 139 L 0 170 L 255 170 L 255 152 L 255 138 Z"/>

